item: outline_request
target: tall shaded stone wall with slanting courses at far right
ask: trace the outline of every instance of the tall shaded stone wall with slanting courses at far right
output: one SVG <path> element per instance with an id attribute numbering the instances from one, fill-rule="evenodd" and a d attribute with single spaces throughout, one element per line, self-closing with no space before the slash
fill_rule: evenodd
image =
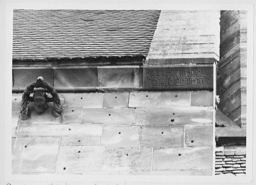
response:
<path id="1" fill-rule="evenodd" d="M 247 12 L 221 11 L 217 95 L 220 110 L 236 124 L 246 125 Z"/>

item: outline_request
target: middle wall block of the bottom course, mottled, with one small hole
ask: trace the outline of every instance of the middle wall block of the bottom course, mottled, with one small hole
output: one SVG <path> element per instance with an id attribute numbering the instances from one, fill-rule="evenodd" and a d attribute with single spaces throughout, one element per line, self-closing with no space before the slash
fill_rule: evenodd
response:
<path id="1" fill-rule="evenodd" d="M 102 170 L 150 170 L 151 148 L 105 148 Z"/>

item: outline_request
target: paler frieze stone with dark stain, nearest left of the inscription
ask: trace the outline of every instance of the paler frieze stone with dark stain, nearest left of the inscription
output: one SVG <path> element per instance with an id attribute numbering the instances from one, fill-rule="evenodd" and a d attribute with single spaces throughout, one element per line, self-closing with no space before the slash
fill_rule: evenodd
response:
<path id="1" fill-rule="evenodd" d="M 100 87 L 139 87 L 139 68 L 98 68 Z"/>

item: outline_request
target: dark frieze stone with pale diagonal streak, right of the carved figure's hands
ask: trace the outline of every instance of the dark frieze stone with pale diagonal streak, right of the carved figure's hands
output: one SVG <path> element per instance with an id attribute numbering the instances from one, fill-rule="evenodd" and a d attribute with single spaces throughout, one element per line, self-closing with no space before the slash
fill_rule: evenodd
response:
<path id="1" fill-rule="evenodd" d="M 97 87 L 97 68 L 54 68 L 54 86 L 56 87 Z"/>

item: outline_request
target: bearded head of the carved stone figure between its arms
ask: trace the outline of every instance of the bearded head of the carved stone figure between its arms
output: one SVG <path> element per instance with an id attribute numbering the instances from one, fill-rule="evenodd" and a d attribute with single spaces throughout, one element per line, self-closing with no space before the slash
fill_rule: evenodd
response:
<path id="1" fill-rule="evenodd" d="M 47 95 L 43 91 L 36 91 L 33 95 L 34 106 L 38 113 L 42 113 L 45 111 L 47 106 Z"/>

